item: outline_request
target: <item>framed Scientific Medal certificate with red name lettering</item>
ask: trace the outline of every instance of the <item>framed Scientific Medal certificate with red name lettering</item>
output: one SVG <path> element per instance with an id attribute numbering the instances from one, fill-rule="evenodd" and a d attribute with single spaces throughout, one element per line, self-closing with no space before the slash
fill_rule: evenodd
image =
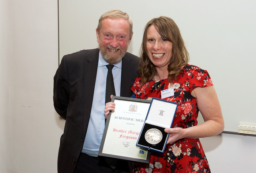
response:
<path id="1" fill-rule="evenodd" d="M 112 97 L 115 110 L 108 115 L 98 156 L 149 163 L 150 152 L 136 146 L 150 100 Z"/>

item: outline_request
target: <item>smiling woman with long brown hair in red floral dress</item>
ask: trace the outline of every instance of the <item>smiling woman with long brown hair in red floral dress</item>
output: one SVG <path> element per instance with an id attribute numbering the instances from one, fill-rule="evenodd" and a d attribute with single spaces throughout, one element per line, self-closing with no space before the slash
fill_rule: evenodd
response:
<path id="1" fill-rule="evenodd" d="M 143 35 L 140 76 L 132 91 L 136 98 L 152 97 L 178 103 L 165 152 L 151 152 L 150 164 L 135 163 L 134 173 L 209 173 L 199 138 L 217 135 L 224 129 L 218 97 L 206 70 L 188 64 L 188 52 L 177 25 L 169 17 L 150 20 Z M 161 91 L 174 95 L 161 96 Z M 105 115 L 114 110 L 106 104 Z M 199 111 L 204 123 L 197 125 Z"/>

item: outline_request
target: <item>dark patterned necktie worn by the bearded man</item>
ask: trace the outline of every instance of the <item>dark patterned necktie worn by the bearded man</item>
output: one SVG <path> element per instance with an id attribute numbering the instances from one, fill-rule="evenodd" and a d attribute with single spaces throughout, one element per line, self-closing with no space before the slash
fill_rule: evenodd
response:
<path id="1" fill-rule="evenodd" d="M 113 74 L 112 74 L 112 68 L 114 67 L 114 65 L 108 64 L 106 66 L 108 68 L 108 75 L 107 75 L 107 80 L 106 80 L 105 103 L 108 103 L 108 102 L 111 102 L 110 95 L 116 95 L 116 91 L 115 91 L 115 87 L 114 87 L 114 79 L 113 79 Z M 106 123 L 106 119 L 105 119 L 105 123 Z M 117 159 L 105 157 L 105 161 L 112 169 L 116 169 Z"/>

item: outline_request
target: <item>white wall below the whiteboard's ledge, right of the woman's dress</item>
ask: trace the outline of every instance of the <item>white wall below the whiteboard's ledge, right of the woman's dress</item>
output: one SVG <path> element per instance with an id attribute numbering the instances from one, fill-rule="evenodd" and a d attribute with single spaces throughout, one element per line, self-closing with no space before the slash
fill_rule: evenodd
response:
<path id="1" fill-rule="evenodd" d="M 212 173 L 256 170 L 256 137 L 219 134 L 200 139 Z"/>

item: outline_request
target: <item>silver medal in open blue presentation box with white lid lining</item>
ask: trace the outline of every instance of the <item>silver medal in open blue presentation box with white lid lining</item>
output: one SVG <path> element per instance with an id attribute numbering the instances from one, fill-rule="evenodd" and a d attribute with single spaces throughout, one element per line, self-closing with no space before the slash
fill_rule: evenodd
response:
<path id="1" fill-rule="evenodd" d="M 172 127 L 177 107 L 178 103 L 152 98 L 136 146 L 163 153 L 169 137 L 164 130 Z"/>

